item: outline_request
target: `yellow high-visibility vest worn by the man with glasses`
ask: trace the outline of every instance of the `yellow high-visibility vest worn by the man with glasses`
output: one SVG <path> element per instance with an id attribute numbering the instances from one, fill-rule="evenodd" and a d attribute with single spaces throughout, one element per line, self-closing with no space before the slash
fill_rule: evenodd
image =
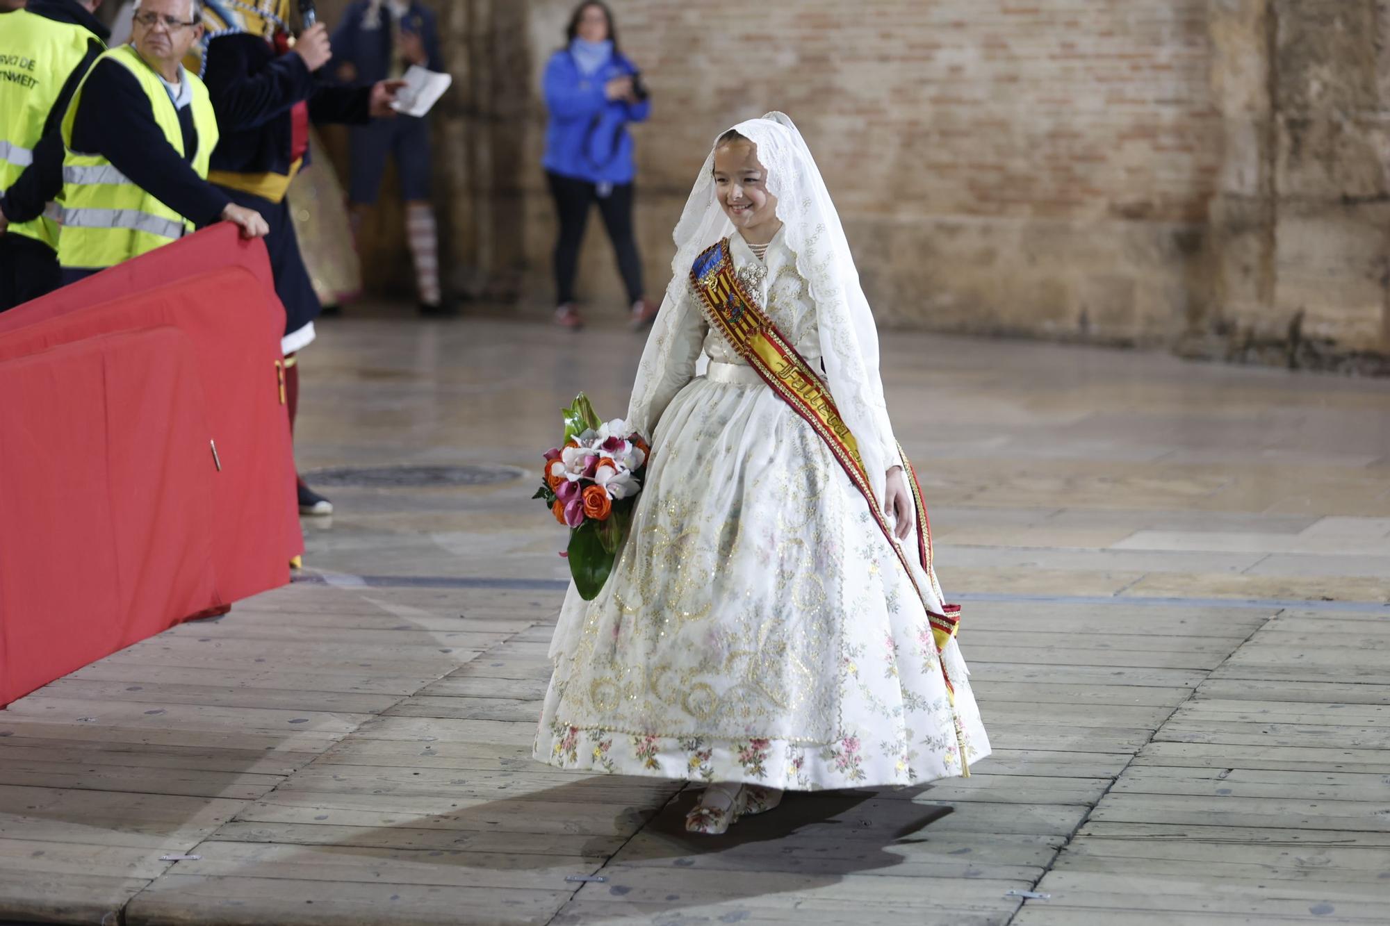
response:
<path id="1" fill-rule="evenodd" d="M 168 90 L 154 68 L 145 63 L 139 53 L 124 44 L 111 49 L 100 58 L 117 61 L 135 75 L 154 110 L 154 121 L 164 131 L 164 139 L 183 154 L 183 131 L 179 128 L 178 110 L 170 100 Z M 96 65 L 88 72 L 88 78 Z M 192 85 L 193 128 L 197 132 L 197 153 L 193 156 L 193 171 L 207 178 L 207 163 L 217 146 L 217 117 L 207 88 L 189 72 L 183 79 Z M 86 79 L 72 95 L 72 104 L 63 117 L 63 143 L 67 157 L 63 160 L 63 235 L 58 238 L 58 263 L 64 267 L 114 267 L 131 257 L 167 245 L 186 232 L 193 231 L 193 222 L 179 216 L 158 199 L 131 182 L 100 154 L 86 154 L 72 150 L 72 121 L 82 103 Z"/>

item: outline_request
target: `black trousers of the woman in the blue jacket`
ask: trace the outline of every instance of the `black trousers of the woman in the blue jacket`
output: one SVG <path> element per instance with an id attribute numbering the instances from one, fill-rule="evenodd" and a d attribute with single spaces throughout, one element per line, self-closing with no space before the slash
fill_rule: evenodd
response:
<path id="1" fill-rule="evenodd" d="M 596 184 L 560 177 L 546 171 L 550 181 L 550 196 L 555 211 L 560 217 L 560 241 L 555 245 L 555 288 L 559 302 L 574 300 L 574 274 L 580 263 L 580 245 L 584 242 L 584 227 L 589 221 L 589 207 L 599 206 L 603 227 L 617 253 L 617 270 L 623 274 L 628 302 L 642 298 L 642 259 L 637 253 L 637 235 L 632 229 L 632 184 L 617 184 L 607 196 L 599 196 Z"/>

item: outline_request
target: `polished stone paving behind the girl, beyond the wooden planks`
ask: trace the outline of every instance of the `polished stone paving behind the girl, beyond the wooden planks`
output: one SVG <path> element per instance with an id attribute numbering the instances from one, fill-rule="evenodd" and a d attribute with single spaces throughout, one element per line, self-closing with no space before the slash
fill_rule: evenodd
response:
<path id="1" fill-rule="evenodd" d="M 626 412 L 641 350 L 619 330 L 500 321 L 324 330 L 303 360 L 310 471 L 535 471 L 580 389 L 605 416 Z M 883 366 L 952 590 L 1386 599 L 1390 381 L 897 332 Z M 528 485 L 338 488 L 341 514 L 309 527 L 309 562 L 563 577 Z"/>

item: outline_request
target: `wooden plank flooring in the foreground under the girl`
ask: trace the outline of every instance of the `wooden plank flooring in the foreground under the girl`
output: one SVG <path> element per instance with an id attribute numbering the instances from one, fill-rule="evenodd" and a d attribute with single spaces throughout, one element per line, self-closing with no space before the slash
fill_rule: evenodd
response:
<path id="1" fill-rule="evenodd" d="M 132 925 L 1026 923 L 1131 911 L 1141 890 L 1175 915 L 1279 918 L 1308 900 L 1351 922 L 1373 919 L 1384 890 L 1384 687 L 1319 694 L 1339 673 L 1318 662 L 1300 688 L 1250 684 L 1319 620 L 1322 645 L 1373 652 L 1390 640 L 1376 617 L 977 603 L 969 652 L 995 754 L 970 779 L 790 795 L 712 840 L 682 831 L 680 783 L 530 759 L 556 594 L 513 598 L 507 613 L 496 592 L 296 585 L 15 704 L 0 715 L 0 870 L 14 876 L 0 909 Z M 311 608 L 350 626 L 275 645 L 327 674 L 265 670 L 239 645 Z M 464 637 L 484 648 L 432 645 Z M 160 683 L 142 649 L 225 656 L 208 684 Z M 392 684 L 414 692 L 381 694 Z M 1225 894 L 1202 887 L 1213 876 Z M 1280 891 L 1241 895 L 1243 877 Z M 1009 891 L 1034 886 L 1051 900 L 1019 909 Z"/>

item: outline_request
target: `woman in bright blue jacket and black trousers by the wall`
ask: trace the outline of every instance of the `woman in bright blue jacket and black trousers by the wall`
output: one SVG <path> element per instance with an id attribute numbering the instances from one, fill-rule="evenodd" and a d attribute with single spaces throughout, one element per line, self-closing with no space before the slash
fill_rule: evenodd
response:
<path id="1" fill-rule="evenodd" d="M 560 218 L 555 246 L 557 324 L 582 324 L 574 307 L 574 273 L 589 207 L 598 203 L 603 227 L 617 252 L 619 271 L 632 303 L 632 324 L 656 316 L 642 292 L 642 260 L 632 229 L 632 136 L 628 122 L 646 120 L 652 104 L 641 72 L 617 47 L 613 13 L 598 0 L 581 3 L 566 31 L 566 47 L 545 68 L 545 175 Z"/>

